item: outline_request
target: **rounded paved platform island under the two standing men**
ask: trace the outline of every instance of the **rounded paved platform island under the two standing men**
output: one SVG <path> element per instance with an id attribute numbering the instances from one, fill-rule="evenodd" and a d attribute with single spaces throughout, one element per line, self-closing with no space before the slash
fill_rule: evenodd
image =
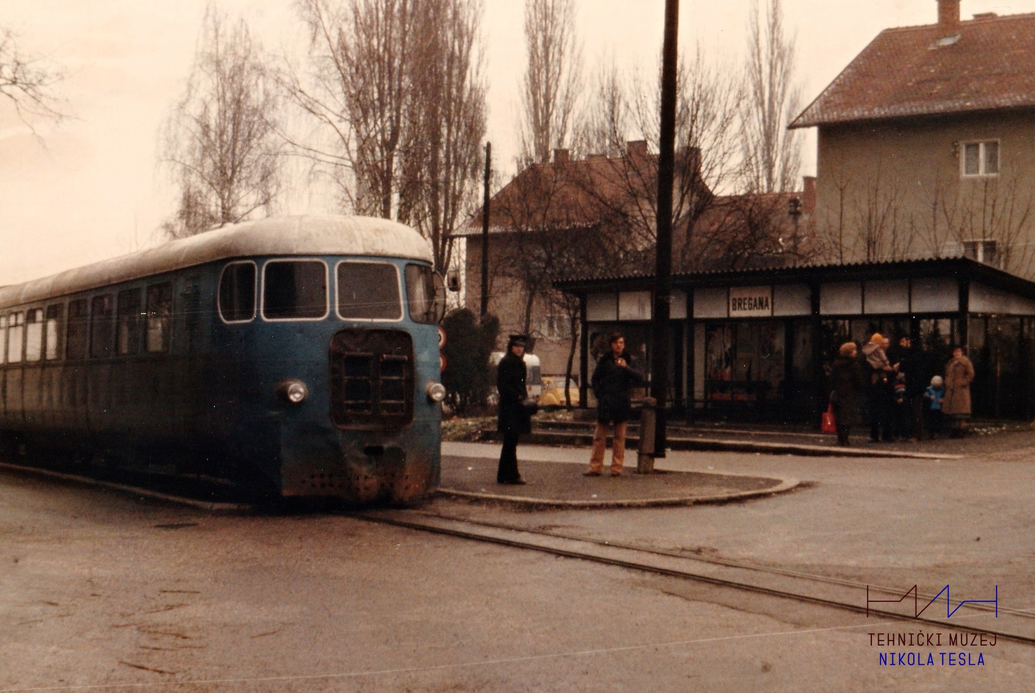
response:
<path id="1" fill-rule="evenodd" d="M 506 485 L 496 483 L 496 458 L 444 452 L 440 494 L 530 508 L 647 508 L 728 503 L 771 495 L 799 485 L 796 479 L 707 472 L 637 474 L 635 453 L 627 457 L 632 464 L 621 477 L 611 477 L 607 466 L 602 476 L 584 477 L 585 460 L 570 459 L 570 450 L 542 446 L 519 448 L 521 473 L 528 483 Z M 530 456 L 534 458 L 528 459 Z"/>

